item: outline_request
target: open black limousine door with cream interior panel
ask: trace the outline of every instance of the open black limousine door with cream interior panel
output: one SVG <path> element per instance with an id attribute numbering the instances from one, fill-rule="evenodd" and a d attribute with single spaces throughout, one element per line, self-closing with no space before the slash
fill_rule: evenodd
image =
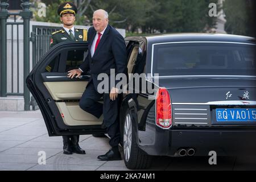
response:
<path id="1" fill-rule="evenodd" d="M 28 75 L 26 83 L 43 114 L 49 136 L 103 134 L 103 115 L 96 118 L 82 110 L 79 100 L 89 75 L 68 78 L 88 53 L 86 42 L 60 43 L 51 48 Z"/>

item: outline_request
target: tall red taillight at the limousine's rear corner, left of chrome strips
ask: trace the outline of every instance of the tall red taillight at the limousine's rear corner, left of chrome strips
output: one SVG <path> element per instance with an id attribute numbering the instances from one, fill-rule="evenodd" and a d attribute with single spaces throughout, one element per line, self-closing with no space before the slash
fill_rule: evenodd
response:
<path id="1" fill-rule="evenodd" d="M 163 128 L 172 126 L 171 98 L 166 88 L 159 88 L 156 94 L 156 125 Z"/>

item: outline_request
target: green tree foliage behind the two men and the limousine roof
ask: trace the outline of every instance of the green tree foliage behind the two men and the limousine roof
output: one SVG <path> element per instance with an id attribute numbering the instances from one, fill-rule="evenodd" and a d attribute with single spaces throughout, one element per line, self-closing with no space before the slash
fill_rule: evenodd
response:
<path id="1" fill-rule="evenodd" d="M 60 23 L 57 7 L 65 0 L 42 1 L 47 4 L 46 17 L 35 19 Z M 93 11 L 105 9 L 109 23 L 134 33 L 204 32 L 213 28 L 216 17 L 209 17 L 209 3 L 217 0 L 75 0 L 79 12 L 76 24 L 92 25 Z"/>

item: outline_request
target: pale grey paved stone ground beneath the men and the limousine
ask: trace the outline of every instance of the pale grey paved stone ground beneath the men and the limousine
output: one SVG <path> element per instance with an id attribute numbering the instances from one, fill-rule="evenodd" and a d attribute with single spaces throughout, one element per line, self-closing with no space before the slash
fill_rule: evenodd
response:
<path id="1" fill-rule="evenodd" d="M 37 111 L 0 111 L 0 170 L 128 170 L 123 160 L 102 162 L 98 155 L 109 150 L 108 138 L 81 135 L 85 155 L 64 155 L 61 137 L 48 137 L 42 115 Z M 122 150 L 122 149 L 121 149 Z M 46 152 L 46 164 L 39 165 L 39 151 Z M 208 157 L 156 157 L 150 170 L 256 170 L 256 156 L 217 158 L 210 166 Z"/>

